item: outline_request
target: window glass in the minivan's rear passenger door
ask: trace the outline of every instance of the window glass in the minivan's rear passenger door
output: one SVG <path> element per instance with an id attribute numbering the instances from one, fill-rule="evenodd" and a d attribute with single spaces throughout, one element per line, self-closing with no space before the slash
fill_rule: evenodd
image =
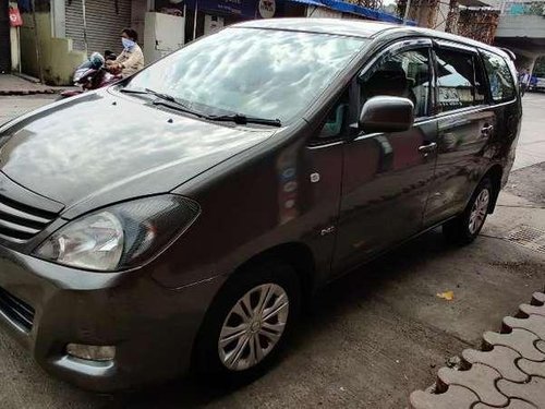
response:
<path id="1" fill-rule="evenodd" d="M 441 112 L 480 105 L 484 81 L 476 56 L 449 49 L 436 50 L 438 107 Z"/>

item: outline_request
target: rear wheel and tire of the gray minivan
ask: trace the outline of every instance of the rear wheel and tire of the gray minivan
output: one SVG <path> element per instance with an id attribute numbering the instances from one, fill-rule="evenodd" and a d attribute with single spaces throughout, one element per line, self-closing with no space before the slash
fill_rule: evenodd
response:
<path id="1" fill-rule="evenodd" d="M 475 240 L 489 213 L 493 192 L 491 179 L 485 178 L 479 183 L 465 210 L 443 225 L 443 233 L 448 242 L 464 245 Z"/>

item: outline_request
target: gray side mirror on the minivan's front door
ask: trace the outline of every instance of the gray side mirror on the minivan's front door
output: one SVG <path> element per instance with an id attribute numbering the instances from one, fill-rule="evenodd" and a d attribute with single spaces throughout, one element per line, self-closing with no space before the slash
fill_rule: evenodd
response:
<path id="1" fill-rule="evenodd" d="M 365 133 L 401 132 L 414 122 L 414 104 L 408 98 L 378 96 L 370 98 L 360 115 L 360 130 Z"/>

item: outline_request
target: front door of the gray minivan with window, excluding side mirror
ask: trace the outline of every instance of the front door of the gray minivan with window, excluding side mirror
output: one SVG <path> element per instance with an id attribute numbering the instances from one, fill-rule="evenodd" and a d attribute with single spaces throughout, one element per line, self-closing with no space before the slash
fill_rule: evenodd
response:
<path id="1" fill-rule="evenodd" d="M 434 178 L 431 41 L 395 45 L 359 76 L 360 106 L 379 95 L 414 103 L 412 129 L 361 133 L 343 145 L 340 217 L 334 269 L 341 272 L 420 231 Z"/>

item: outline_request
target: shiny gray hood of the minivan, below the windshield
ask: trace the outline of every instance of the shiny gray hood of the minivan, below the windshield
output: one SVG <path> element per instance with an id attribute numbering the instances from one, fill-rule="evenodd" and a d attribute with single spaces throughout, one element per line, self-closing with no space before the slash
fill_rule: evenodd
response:
<path id="1" fill-rule="evenodd" d="M 102 91 L 4 127 L 0 170 L 69 209 L 83 203 L 92 208 L 169 192 L 272 133 L 209 123 Z"/>

